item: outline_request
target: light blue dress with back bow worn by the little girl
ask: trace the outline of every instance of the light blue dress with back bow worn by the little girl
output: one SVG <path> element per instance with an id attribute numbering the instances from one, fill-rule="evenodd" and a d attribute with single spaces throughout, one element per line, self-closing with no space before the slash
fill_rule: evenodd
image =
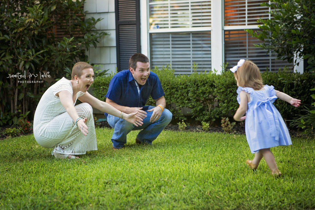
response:
<path id="1" fill-rule="evenodd" d="M 237 101 L 240 104 L 240 92 L 250 94 L 245 120 L 246 139 L 252 153 L 260 149 L 292 144 L 289 130 L 273 102 L 278 98 L 273 86 L 264 86 L 265 90 L 238 87 Z"/>

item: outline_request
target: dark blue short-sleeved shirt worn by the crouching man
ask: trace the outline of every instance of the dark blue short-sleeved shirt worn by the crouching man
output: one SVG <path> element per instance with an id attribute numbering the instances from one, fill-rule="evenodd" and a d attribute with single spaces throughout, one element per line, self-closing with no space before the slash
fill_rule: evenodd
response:
<path id="1" fill-rule="evenodd" d="M 138 94 L 138 88 L 131 72 L 123 70 L 114 75 L 105 97 L 120 106 L 143 107 L 142 110 L 146 111 L 149 106 L 145 105 L 150 96 L 156 100 L 165 95 L 160 80 L 153 72 L 150 72 L 146 84 L 139 85 L 139 88 L 140 94 Z M 106 117 L 107 115 L 105 113 Z"/>

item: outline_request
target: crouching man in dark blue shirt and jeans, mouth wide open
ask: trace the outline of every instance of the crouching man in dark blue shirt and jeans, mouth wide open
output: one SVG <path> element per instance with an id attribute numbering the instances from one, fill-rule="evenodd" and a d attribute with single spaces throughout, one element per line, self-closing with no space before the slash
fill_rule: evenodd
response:
<path id="1" fill-rule="evenodd" d="M 172 113 L 165 108 L 162 85 L 157 75 L 150 72 L 148 57 L 141 53 L 129 59 L 129 70 L 118 72 L 109 83 L 106 103 L 126 114 L 138 112 L 143 125 L 138 127 L 119 117 L 105 113 L 107 122 L 114 128 L 113 149 L 123 148 L 130 131 L 141 130 L 136 137 L 137 144 L 152 144 L 152 141 L 172 120 Z M 149 96 L 156 106 L 145 106 Z"/>

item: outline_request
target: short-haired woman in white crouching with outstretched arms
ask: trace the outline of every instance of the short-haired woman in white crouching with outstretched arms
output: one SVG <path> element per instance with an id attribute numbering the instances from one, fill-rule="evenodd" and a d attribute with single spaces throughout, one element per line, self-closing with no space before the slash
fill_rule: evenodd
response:
<path id="1" fill-rule="evenodd" d="M 135 126 L 142 119 L 136 113 L 125 114 L 87 91 L 94 80 L 93 67 L 78 62 L 71 80 L 60 79 L 48 88 L 39 101 L 34 116 L 34 137 L 44 148 L 54 148 L 55 158 L 78 158 L 86 151 L 97 150 L 92 107 L 123 118 Z M 82 103 L 74 106 L 77 99 Z"/>

